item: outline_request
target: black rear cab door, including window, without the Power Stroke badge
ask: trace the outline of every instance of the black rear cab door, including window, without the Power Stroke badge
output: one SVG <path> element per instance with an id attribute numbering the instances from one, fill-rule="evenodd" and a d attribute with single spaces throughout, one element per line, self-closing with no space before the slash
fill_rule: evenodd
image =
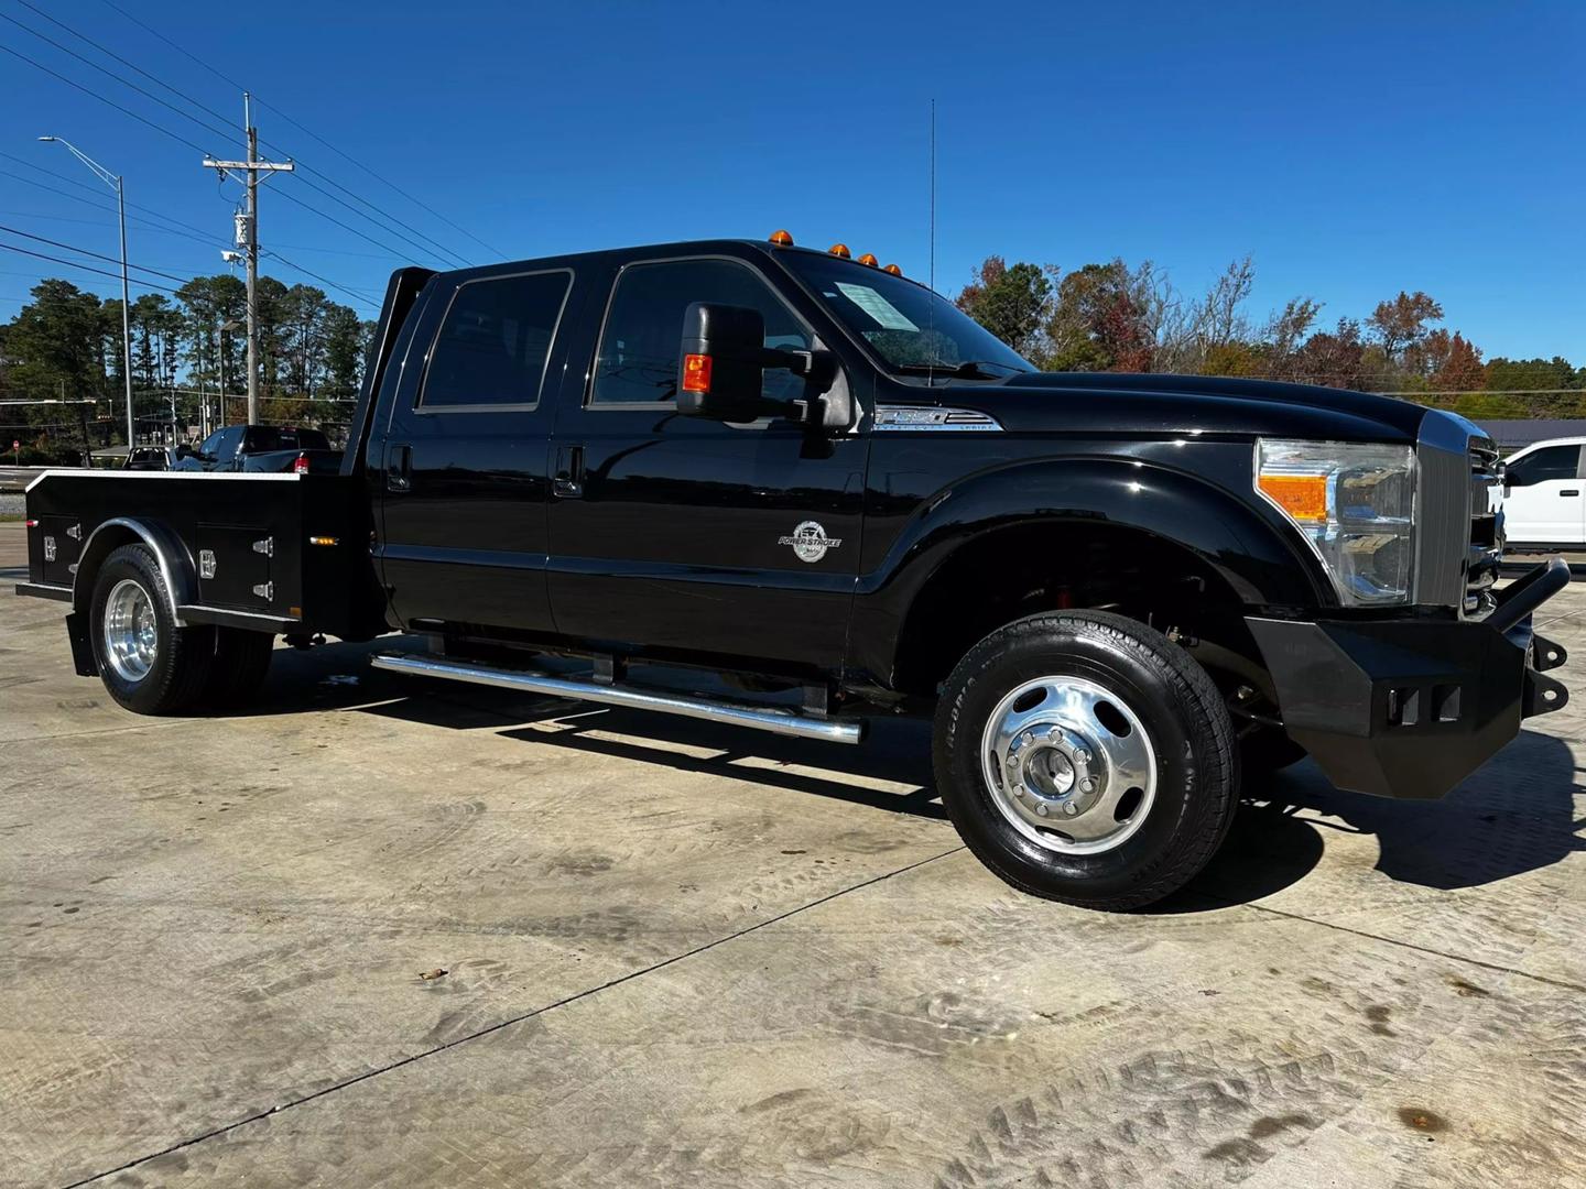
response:
<path id="1" fill-rule="evenodd" d="M 546 452 L 573 282 L 568 268 L 474 276 L 427 306 L 389 414 L 376 545 L 409 628 L 552 626 Z"/>

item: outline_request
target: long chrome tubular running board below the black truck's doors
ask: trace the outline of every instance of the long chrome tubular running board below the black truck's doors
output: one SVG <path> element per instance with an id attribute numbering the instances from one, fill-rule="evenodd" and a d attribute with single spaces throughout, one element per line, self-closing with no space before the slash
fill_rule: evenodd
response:
<path id="1" fill-rule="evenodd" d="M 390 672 L 444 677 L 449 682 L 469 682 L 473 685 L 492 685 L 498 690 L 519 690 L 522 693 L 574 698 L 584 702 L 625 705 L 631 710 L 657 710 L 660 713 L 682 715 L 684 718 L 706 718 L 712 723 L 752 726 L 757 731 L 771 731 L 779 736 L 823 739 L 828 744 L 858 744 L 864 739 L 864 723 L 856 718 L 812 718 L 796 710 L 783 710 L 772 705 L 715 702 L 657 690 L 636 690 L 631 685 L 600 685 L 596 682 L 569 680 L 539 672 L 492 669 L 484 664 L 411 656 L 406 653 L 376 653 L 370 663 L 376 669 L 389 669 Z"/>

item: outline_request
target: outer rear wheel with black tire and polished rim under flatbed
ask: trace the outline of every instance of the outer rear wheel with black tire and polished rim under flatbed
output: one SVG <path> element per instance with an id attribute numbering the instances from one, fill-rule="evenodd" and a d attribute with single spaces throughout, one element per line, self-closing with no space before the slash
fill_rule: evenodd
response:
<path id="1" fill-rule="evenodd" d="M 89 604 L 94 659 L 105 690 L 141 715 L 181 713 L 203 693 L 214 628 L 179 628 L 147 545 L 122 545 L 100 566 Z"/>

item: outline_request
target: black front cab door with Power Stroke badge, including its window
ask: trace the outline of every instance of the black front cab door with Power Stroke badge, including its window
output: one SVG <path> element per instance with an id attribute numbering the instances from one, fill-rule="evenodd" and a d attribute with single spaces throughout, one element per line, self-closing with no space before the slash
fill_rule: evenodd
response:
<path id="1" fill-rule="evenodd" d="M 750 306 L 766 346 L 812 328 L 747 262 L 633 260 L 612 281 L 585 385 L 555 425 L 550 606 L 561 636 L 788 667 L 842 664 L 860 564 L 866 439 L 791 420 L 677 412 L 684 312 Z M 768 369 L 763 393 L 803 380 Z"/>

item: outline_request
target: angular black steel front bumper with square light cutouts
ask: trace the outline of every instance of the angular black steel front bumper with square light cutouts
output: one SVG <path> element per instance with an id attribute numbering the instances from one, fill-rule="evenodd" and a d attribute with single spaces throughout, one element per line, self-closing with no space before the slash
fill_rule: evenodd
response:
<path id="1" fill-rule="evenodd" d="M 1553 560 L 1526 572 L 1480 620 L 1250 617 L 1289 737 L 1343 789 L 1440 797 L 1569 691 L 1546 669 L 1557 644 L 1530 614 L 1569 585 Z"/>

